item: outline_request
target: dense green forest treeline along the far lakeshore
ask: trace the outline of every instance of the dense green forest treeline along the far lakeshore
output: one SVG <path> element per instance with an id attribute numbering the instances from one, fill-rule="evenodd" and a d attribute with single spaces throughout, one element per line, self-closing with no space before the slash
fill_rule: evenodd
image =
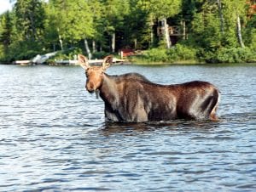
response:
<path id="1" fill-rule="evenodd" d="M 152 62 L 255 62 L 255 13 L 254 0 L 16 0 L 0 15 L 0 61 L 132 48 Z"/>

